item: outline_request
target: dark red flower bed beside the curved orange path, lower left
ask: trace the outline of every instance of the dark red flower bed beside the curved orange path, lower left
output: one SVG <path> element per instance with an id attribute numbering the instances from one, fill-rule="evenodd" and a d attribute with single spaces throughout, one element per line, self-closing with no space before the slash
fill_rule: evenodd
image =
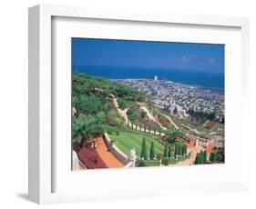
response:
<path id="1" fill-rule="evenodd" d="M 94 148 L 81 148 L 78 152 L 78 157 L 82 164 L 88 169 L 107 168 L 106 164 L 104 164 Z"/>

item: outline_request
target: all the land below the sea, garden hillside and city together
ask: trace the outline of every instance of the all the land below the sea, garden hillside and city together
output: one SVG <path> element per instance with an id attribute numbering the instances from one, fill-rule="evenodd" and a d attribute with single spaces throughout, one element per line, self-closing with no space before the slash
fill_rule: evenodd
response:
<path id="1" fill-rule="evenodd" d="M 73 170 L 224 163 L 224 92 L 73 73 Z"/>

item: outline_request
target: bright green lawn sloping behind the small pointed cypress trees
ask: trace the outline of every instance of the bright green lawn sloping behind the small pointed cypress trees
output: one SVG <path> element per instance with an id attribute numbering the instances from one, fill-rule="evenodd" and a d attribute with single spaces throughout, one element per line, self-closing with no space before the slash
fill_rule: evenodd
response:
<path id="1" fill-rule="evenodd" d="M 163 154 L 164 152 L 164 146 L 162 144 L 159 144 L 152 136 L 145 135 L 145 134 L 136 134 L 136 133 L 130 133 L 130 132 L 119 132 L 119 134 L 108 134 L 111 140 L 115 140 L 115 143 L 118 148 L 124 152 L 125 154 L 130 154 L 130 150 L 132 148 L 135 148 L 137 159 L 140 160 L 140 153 L 141 153 L 141 145 L 143 138 L 146 139 L 147 144 L 147 151 L 149 156 L 149 150 L 150 150 L 150 144 L 152 141 L 154 141 L 155 145 L 155 154 Z"/>

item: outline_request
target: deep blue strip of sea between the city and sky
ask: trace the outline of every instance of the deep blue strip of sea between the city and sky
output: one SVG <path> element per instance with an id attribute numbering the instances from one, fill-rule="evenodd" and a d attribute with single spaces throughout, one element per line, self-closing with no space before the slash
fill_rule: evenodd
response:
<path id="1" fill-rule="evenodd" d="M 154 79 L 154 75 L 158 75 L 159 80 L 165 79 L 184 85 L 196 85 L 216 90 L 224 90 L 224 73 L 185 71 L 177 69 L 84 65 L 74 65 L 73 72 L 87 73 L 87 75 L 101 76 L 108 79 Z"/>

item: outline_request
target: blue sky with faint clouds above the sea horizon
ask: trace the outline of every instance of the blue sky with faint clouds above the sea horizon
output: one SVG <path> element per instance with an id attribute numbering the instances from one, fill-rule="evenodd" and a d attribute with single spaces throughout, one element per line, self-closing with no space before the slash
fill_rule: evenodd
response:
<path id="1" fill-rule="evenodd" d="M 73 65 L 224 73 L 224 45 L 72 39 Z"/>

